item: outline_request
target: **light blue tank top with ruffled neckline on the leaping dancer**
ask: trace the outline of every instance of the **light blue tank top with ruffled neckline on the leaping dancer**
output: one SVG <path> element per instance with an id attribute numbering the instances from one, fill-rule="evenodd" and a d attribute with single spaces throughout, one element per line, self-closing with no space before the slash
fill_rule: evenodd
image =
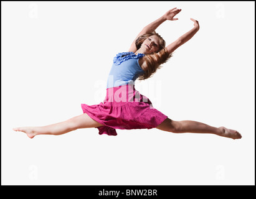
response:
<path id="1" fill-rule="evenodd" d="M 135 55 L 134 52 L 118 53 L 113 59 L 113 65 L 108 75 L 107 88 L 134 84 L 138 76 L 145 73 L 139 65 L 139 59 L 144 56 L 142 53 Z"/>

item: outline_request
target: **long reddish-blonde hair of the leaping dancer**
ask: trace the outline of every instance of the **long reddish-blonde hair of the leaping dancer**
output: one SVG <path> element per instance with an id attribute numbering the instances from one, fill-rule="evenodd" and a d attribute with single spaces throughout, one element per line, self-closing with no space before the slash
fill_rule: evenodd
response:
<path id="1" fill-rule="evenodd" d="M 138 37 L 135 41 L 135 45 L 137 50 L 140 49 L 141 44 L 147 39 L 148 37 L 156 35 L 159 39 L 159 50 L 158 52 L 154 52 L 151 54 L 145 55 L 145 62 L 146 62 L 146 71 L 143 75 L 139 76 L 139 80 L 146 80 L 147 78 L 151 77 L 158 68 L 161 68 L 161 64 L 166 63 L 169 58 L 173 55 L 169 54 L 165 49 L 166 42 L 164 39 L 155 31 L 149 34 L 144 34 Z"/>

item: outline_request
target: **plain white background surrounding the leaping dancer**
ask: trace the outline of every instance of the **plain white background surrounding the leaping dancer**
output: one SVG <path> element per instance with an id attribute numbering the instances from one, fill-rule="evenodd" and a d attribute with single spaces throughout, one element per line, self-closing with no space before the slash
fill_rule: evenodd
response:
<path id="1" fill-rule="evenodd" d="M 18 126 L 82 114 L 105 98 L 113 57 L 156 30 L 169 44 L 201 28 L 154 76 L 136 82 L 174 120 L 236 129 L 242 139 L 158 129 L 78 129 L 29 139 Z M 1 2 L 2 185 L 254 185 L 254 2 Z"/>

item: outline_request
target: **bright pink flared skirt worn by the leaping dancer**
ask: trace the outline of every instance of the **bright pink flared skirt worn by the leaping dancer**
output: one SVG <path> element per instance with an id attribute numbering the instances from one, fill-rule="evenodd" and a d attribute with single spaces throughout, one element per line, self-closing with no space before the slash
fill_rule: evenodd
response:
<path id="1" fill-rule="evenodd" d="M 168 118 L 153 108 L 151 101 L 135 90 L 135 85 L 129 84 L 107 88 L 103 103 L 81 107 L 83 113 L 103 124 L 97 127 L 100 135 L 116 136 L 115 129 L 152 129 Z"/>

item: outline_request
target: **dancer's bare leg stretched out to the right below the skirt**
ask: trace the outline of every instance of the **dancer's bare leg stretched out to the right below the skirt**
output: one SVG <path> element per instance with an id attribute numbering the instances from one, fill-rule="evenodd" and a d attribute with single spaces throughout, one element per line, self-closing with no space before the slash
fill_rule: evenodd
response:
<path id="1" fill-rule="evenodd" d="M 227 129 L 225 127 L 213 127 L 197 121 L 173 121 L 169 118 L 165 119 L 163 123 L 159 124 L 157 129 L 168 132 L 194 132 L 194 133 L 209 133 L 216 134 L 217 136 L 230 137 L 232 139 L 240 139 L 242 136 L 239 132 Z"/>

